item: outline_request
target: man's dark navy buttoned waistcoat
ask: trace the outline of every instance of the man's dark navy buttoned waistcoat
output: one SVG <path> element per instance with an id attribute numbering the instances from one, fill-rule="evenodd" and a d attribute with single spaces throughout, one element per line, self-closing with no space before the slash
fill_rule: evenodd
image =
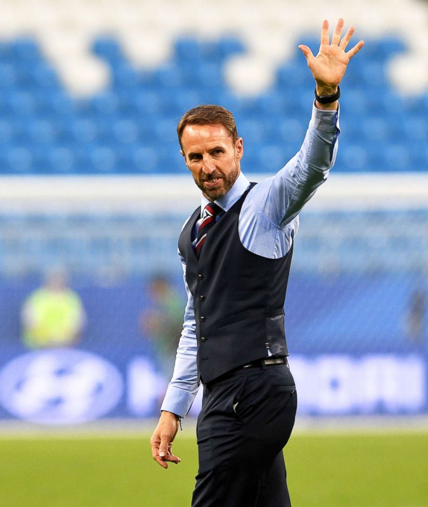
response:
<path id="1" fill-rule="evenodd" d="M 288 356 L 284 300 L 293 246 L 280 259 L 267 259 L 241 243 L 239 215 L 250 188 L 208 231 L 198 260 L 192 229 L 200 206 L 185 224 L 178 248 L 194 297 L 198 375 L 204 384 L 243 364 Z"/>

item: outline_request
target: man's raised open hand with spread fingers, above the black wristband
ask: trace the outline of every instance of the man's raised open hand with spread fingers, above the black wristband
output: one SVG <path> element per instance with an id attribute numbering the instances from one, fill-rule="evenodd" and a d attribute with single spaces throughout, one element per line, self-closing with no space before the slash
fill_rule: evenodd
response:
<path id="1" fill-rule="evenodd" d="M 345 49 L 349 44 L 355 28 L 352 26 L 349 27 L 341 40 L 343 25 L 344 20 L 340 18 L 330 43 L 328 21 L 323 21 L 321 44 L 317 56 L 314 56 L 310 48 L 304 44 L 299 45 L 299 49 L 306 57 L 307 66 L 311 69 L 312 75 L 317 82 L 318 95 L 332 95 L 336 93 L 338 84 L 345 74 L 349 60 L 356 55 L 364 45 L 364 41 L 360 40 L 351 50 L 345 53 Z"/>

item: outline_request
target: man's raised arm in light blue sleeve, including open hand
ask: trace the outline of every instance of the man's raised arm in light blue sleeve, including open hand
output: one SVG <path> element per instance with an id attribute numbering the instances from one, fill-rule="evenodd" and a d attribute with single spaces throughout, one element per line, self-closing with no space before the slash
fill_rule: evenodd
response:
<path id="1" fill-rule="evenodd" d="M 343 19 L 339 19 L 330 43 L 328 22 L 323 22 L 317 56 L 306 45 L 299 45 L 314 76 L 318 96 L 336 94 L 349 60 L 364 45 L 361 40 L 345 52 L 354 28 L 350 27 L 341 39 L 342 29 Z M 286 255 L 297 231 L 294 219 L 335 163 L 339 133 L 338 101 L 322 104 L 315 100 L 299 152 L 275 176 L 256 185 L 244 202 L 240 238 L 247 249 L 270 258 Z"/>

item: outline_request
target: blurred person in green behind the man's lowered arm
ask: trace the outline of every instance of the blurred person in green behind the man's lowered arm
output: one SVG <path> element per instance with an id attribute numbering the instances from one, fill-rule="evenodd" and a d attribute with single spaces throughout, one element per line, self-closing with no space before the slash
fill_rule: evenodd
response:
<path id="1" fill-rule="evenodd" d="M 171 378 L 183 327 L 183 300 L 162 274 L 149 281 L 147 293 L 149 307 L 139 315 L 139 328 L 153 344 L 161 373 Z"/>

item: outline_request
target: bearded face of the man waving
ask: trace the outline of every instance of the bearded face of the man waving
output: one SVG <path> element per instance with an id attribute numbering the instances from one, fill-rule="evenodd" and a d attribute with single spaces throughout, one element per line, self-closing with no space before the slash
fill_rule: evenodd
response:
<path id="1" fill-rule="evenodd" d="M 222 125 L 187 125 L 181 135 L 186 166 L 210 201 L 223 197 L 241 172 L 242 138 L 233 143 Z"/>

